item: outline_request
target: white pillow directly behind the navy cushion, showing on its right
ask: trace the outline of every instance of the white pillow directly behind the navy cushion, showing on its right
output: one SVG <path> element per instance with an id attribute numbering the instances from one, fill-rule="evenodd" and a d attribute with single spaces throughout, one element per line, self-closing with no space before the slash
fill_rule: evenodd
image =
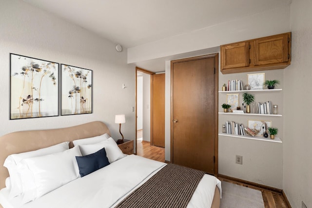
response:
<path id="1" fill-rule="evenodd" d="M 97 144 L 79 146 L 82 156 L 95 153 L 103 147 L 105 148 L 109 163 L 113 163 L 125 156 L 112 137 Z"/>

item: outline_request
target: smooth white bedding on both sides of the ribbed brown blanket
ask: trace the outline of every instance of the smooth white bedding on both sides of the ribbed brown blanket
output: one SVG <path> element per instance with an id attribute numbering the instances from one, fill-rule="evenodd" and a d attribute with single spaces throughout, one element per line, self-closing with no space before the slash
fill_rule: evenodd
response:
<path id="1" fill-rule="evenodd" d="M 165 163 L 129 155 L 109 166 L 78 178 L 39 199 L 21 205 L 21 197 L 7 200 L 7 188 L 0 190 L 0 204 L 3 208 L 109 208 L 115 207 L 122 199 L 135 190 Z M 205 174 L 200 181 L 188 208 L 211 207 L 215 186 L 220 190 L 221 182 Z"/>

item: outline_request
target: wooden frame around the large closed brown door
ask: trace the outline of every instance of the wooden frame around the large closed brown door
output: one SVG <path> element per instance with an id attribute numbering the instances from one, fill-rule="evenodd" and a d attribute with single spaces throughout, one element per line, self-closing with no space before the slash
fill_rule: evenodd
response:
<path id="1" fill-rule="evenodd" d="M 206 58 L 214 58 L 215 60 L 215 138 L 214 138 L 214 175 L 217 176 L 218 174 L 218 72 L 219 72 L 219 54 L 208 54 L 208 55 L 202 55 L 202 56 L 196 56 L 191 58 L 185 58 L 185 59 L 178 59 L 178 60 L 172 60 L 171 61 L 171 67 L 170 67 L 170 163 L 173 162 L 173 89 L 174 89 L 174 63 L 178 62 L 188 62 L 188 61 L 195 61 L 199 59 L 206 59 Z"/>

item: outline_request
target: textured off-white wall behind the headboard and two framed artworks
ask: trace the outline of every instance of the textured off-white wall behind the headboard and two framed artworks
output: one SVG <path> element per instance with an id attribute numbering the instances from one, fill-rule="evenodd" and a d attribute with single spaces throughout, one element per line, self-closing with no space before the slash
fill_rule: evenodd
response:
<path id="1" fill-rule="evenodd" d="M 125 138 L 135 138 L 135 67 L 115 43 L 20 0 L 0 0 L 0 135 L 102 121 L 118 139 L 115 114 L 125 114 Z M 93 113 L 9 120 L 9 53 L 93 70 Z M 126 85 L 122 89 L 122 83 Z"/>

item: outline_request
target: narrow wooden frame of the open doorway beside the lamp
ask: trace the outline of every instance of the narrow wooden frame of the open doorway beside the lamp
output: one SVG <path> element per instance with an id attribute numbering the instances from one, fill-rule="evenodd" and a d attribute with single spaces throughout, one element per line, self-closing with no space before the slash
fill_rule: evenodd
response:
<path id="1" fill-rule="evenodd" d="M 152 118 L 152 110 L 153 110 L 153 105 L 152 105 L 152 102 L 153 102 L 153 94 L 152 94 L 152 92 L 153 92 L 153 74 L 155 74 L 155 72 L 151 72 L 151 71 L 148 71 L 148 70 L 146 70 L 146 69 L 142 69 L 142 68 L 140 68 L 140 67 L 137 67 L 136 66 L 136 103 L 135 103 L 135 106 L 136 106 L 136 126 L 135 126 L 135 128 L 136 128 L 136 154 L 137 154 L 137 71 L 140 71 L 140 72 L 143 72 L 143 73 L 146 73 L 146 74 L 149 74 L 149 75 L 151 75 L 151 121 L 150 121 L 150 124 L 151 124 L 151 132 L 150 132 L 150 134 L 151 134 L 151 144 L 153 144 L 152 142 L 153 142 L 153 135 L 152 135 L 152 121 L 153 121 L 153 118 Z"/>

